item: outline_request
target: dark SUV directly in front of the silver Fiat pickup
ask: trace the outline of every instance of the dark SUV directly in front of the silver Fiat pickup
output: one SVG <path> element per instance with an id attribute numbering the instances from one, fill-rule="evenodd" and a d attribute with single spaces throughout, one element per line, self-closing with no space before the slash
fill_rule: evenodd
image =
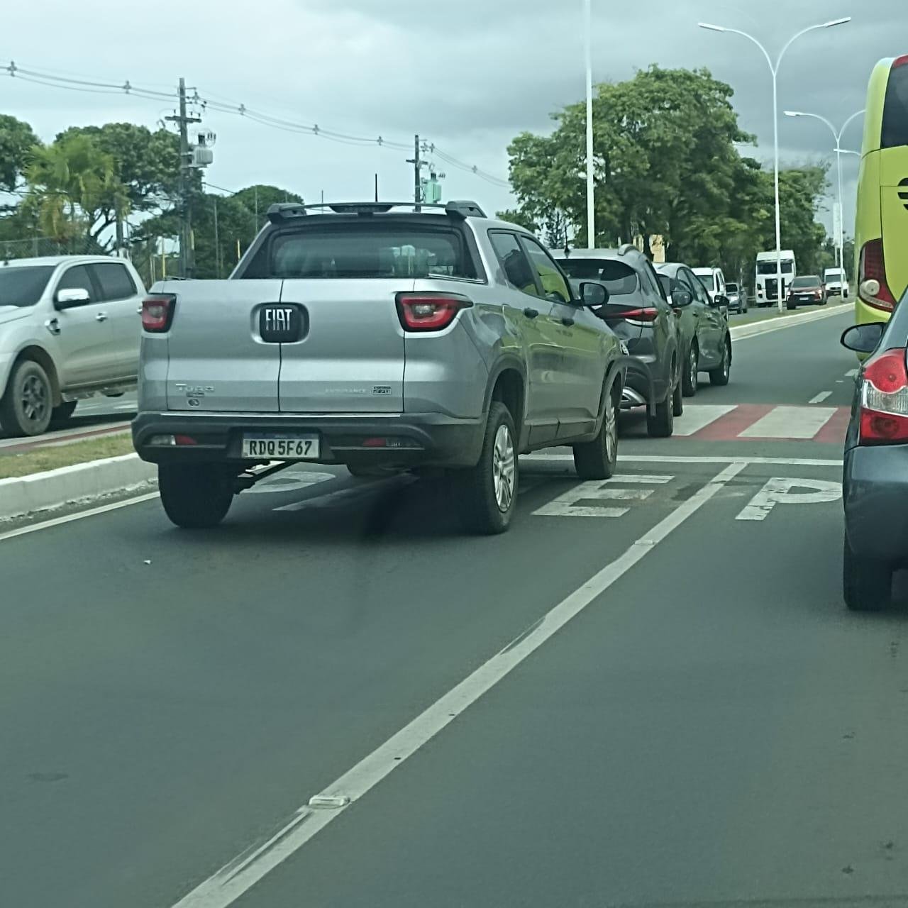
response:
<path id="1" fill-rule="evenodd" d="M 646 406 L 646 429 L 666 437 L 684 410 L 681 395 L 682 352 L 678 319 L 656 271 L 637 247 L 554 252 L 575 290 L 597 281 L 608 290 L 600 316 L 627 344 L 631 360 L 622 407 Z M 706 291 L 703 291 L 706 294 Z"/>

